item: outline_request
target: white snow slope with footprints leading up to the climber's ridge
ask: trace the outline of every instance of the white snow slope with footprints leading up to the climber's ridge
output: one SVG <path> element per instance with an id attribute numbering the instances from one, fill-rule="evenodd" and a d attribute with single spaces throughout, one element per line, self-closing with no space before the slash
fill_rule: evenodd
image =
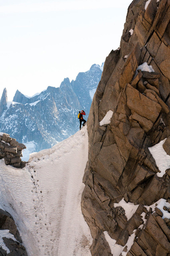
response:
<path id="1" fill-rule="evenodd" d="M 13 216 L 28 255 L 90 256 L 92 236 L 81 212 L 86 126 L 30 156 L 23 169 L 0 160 L 0 205 Z"/>

